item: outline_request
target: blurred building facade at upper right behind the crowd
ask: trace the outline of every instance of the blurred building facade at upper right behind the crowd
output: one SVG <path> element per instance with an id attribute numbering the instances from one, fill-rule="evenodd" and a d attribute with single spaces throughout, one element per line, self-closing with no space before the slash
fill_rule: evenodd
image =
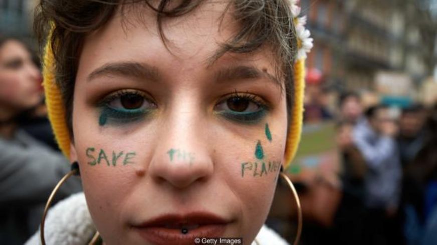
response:
<path id="1" fill-rule="evenodd" d="M 431 75 L 426 58 L 433 53 L 422 48 L 419 6 L 407 1 L 301 0 L 314 38 L 307 66 L 340 90 L 373 90 L 380 71 L 419 83 Z"/>

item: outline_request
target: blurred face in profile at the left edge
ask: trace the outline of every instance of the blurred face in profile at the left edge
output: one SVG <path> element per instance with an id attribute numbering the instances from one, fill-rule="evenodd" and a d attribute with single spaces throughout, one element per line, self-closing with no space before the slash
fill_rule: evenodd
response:
<path id="1" fill-rule="evenodd" d="M 41 74 L 29 51 L 16 40 L 0 46 L 0 105 L 20 111 L 41 101 Z"/>

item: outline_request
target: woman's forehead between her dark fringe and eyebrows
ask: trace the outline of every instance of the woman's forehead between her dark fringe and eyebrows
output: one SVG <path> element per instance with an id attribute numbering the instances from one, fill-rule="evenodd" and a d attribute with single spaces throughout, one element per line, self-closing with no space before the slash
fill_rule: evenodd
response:
<path id="1" fill-rule="evenodd" d="M 242 61 L 274 66 L 273 53 L 261 48 L 256 53 L 226 54 L 211 63 L 211 57 L 221 45 L 239 31 L 232 9 L 227 9 L 226 1 L 205 1 L 186 15 L 164 19 L 162 31 L 166 40 L 163 41 L 156 13 L 141 4 L 127 5 L 118 9 L 105 26 L 85 38 L 78 71 L 133 60 L 153 65 L 157 60 L 166 60 L 167 66 L 178 69 L 181 66 L 184 69 L 198 69 L 200 66 L 206 69 L 216 63 Z M 83 61 L 86 61 L 86 67 Z"/>

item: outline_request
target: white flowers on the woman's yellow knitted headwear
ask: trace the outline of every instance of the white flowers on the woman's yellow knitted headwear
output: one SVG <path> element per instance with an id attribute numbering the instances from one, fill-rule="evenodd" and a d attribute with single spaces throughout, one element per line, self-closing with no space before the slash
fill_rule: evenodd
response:
<path id="1" fill-rule="evenodd" d="M 299 17 L 301 13 L 301 7 L 298 6 L 298 0 L 289 0 L 291 15 L 293 17 L 293 24 L 296 28 L 297 35 L 297 60 L 307 58 L 307 53 L 311 51 L 313 47 L 313 38 L 310 37 L 310 31 L 305 28 L 307 23 L 307 17 Z"/>

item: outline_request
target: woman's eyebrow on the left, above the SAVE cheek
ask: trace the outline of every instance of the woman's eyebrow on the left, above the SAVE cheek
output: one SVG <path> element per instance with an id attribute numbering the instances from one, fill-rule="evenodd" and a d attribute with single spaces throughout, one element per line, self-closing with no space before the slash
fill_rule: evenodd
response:
<path id="1" fill-rule="evenodd" d="M 110 75 L 146 78 L 152 81 L 160 80 L 159 70 L 154 66 L 139 62 L 115 62 L 104 64 L 92 71 L 88 75 L 87 81 Z"/>

